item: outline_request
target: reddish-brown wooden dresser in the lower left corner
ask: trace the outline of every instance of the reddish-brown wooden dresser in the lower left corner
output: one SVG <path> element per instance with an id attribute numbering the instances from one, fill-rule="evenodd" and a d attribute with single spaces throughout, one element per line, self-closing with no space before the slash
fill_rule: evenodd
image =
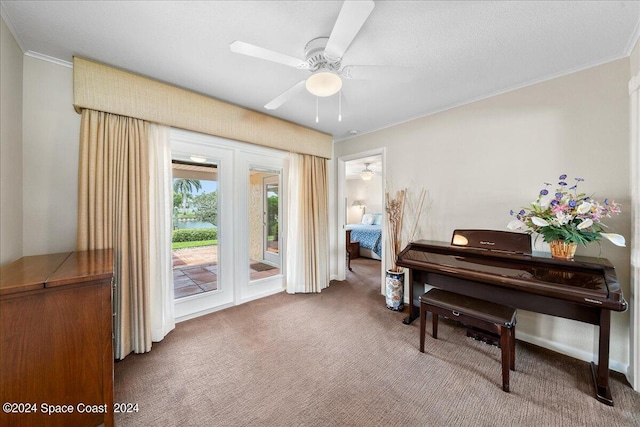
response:
<path id="1" fill-rule="evenodd" d="M 0 425 L 113 426 L 112 278 L 110 249 L 0 268 Z"/>

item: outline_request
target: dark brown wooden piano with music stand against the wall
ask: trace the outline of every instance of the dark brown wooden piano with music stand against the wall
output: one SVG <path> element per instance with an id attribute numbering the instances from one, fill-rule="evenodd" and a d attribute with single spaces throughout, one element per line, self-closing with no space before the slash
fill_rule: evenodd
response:
<path id="1" fill-rule="evenodd" d="M 410 243 L 397 265 L 409 269 L 409 315 L 418 318 L 424 285 L 510 307 L 599 326 L 598 364 L 591 362 L 596 399 L 613 406 L 609 388 L 611 311 L 624 311 L 615 269 L 604 258 L 554 259 L 531 252 L 528 234 L 456 230 L 451 242 Z"/>

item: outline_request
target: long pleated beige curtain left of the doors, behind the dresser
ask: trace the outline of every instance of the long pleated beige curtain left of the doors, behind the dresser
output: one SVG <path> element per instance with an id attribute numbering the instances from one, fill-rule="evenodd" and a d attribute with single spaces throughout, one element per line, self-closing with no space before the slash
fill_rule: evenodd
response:
<path id="1" fill-rule="evenodd" d="M 151 350 L 148 123 L 83 110 L 78 250 L 114 249 L 115 356 Z"/>

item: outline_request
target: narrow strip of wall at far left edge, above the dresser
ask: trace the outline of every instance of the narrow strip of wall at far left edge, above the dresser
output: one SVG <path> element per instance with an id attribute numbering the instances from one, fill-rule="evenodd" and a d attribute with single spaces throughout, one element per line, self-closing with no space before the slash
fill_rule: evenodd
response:
<path id="1" fill-rule="evenodd" d="M 0 265 L 22 256 L 22 50 L 0 19 Z"/>

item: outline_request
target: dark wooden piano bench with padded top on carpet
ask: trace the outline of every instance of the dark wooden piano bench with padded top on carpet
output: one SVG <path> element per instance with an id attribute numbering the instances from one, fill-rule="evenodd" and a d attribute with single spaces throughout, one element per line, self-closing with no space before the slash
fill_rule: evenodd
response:
<path id="1" fill-rule="evenodd" d="M 438 338 L 438 317 L 444 316 L 500 337 L 502 389 L 509 391 L 509 370 L 515 371 L 516 309 L 442 289 L 431 289 L 420 297 L 420 352 L 424 353 L 427 312 L 432 313 L 432 335 Z"/>

